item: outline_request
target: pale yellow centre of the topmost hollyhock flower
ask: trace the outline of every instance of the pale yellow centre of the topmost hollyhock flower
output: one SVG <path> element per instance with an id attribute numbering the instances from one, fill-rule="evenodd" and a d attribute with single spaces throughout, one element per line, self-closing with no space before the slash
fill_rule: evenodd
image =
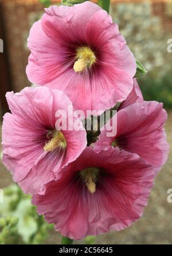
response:
<path id="1" fill-rule="evenodd" d="M 76 59 L 73 69 L 75 72 L 83 72 L 87 67 L 91 67 L 96 62 L 96 57 L 91 48 L 84 46 L 77 49 Z"/>

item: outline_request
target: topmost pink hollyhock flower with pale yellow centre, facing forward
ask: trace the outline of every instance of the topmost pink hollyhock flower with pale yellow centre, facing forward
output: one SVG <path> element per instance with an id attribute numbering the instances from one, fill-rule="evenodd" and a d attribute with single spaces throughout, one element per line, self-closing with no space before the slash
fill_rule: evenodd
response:
<path id="1" fill-rule="evenodd" d="M 34 84 L 64 91 L 78 110 L 107 110 L 133 88 L 136 61 L 118 25 L 92 2 L 50 6 L 28 38 Z"/>

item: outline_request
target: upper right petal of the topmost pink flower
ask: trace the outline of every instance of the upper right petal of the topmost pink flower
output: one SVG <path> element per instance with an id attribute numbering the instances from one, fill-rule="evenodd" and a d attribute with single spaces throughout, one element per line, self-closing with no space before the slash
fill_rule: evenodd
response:
<path id="1" fill-rule="evenodd" d="M 134 77 L 136 73 L 134 55 L 126 46 L 124 37 L 120 35 L 118 25 L 112 22 L 107 12 L 99 10 L 92 16 L 87 24 L 85 37 L 89 46 L 96 46 L 97 54 L 101 54 L 105 65 L 111 68 L 114 66 L 117 74 L 118 70 L 123 70 L 131 78 Z"/>

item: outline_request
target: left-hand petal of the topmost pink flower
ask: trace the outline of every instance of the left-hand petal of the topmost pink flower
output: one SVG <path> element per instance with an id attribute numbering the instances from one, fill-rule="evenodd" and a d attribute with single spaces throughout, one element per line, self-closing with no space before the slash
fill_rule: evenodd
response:
<path id="1" fill-rule="evenodd" d="M 65 48 L 60 47 L 58 40 L 45 35 L 41 21 L 34 23 L 30 29 L 28 47 L 32 53 L 26 74 L 33 84 L 46 84 L 64 73 Z"/>

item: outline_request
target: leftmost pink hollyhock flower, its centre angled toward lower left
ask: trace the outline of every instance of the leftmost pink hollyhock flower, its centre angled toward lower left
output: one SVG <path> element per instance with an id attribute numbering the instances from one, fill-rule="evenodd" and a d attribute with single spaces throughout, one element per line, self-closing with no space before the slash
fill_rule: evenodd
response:
<path id="1" fill-rule="evenodd" d="M 15 94 L 7 92 L 6 97 L 12 114 L 3 118 L 3 163 L 25 193 L 37 193 L 81 154 L 87 146 L 86 131 L 58 127 L 56 111 L 68 114 L 72 107 L 64 92 L 28 87 Z"/>

